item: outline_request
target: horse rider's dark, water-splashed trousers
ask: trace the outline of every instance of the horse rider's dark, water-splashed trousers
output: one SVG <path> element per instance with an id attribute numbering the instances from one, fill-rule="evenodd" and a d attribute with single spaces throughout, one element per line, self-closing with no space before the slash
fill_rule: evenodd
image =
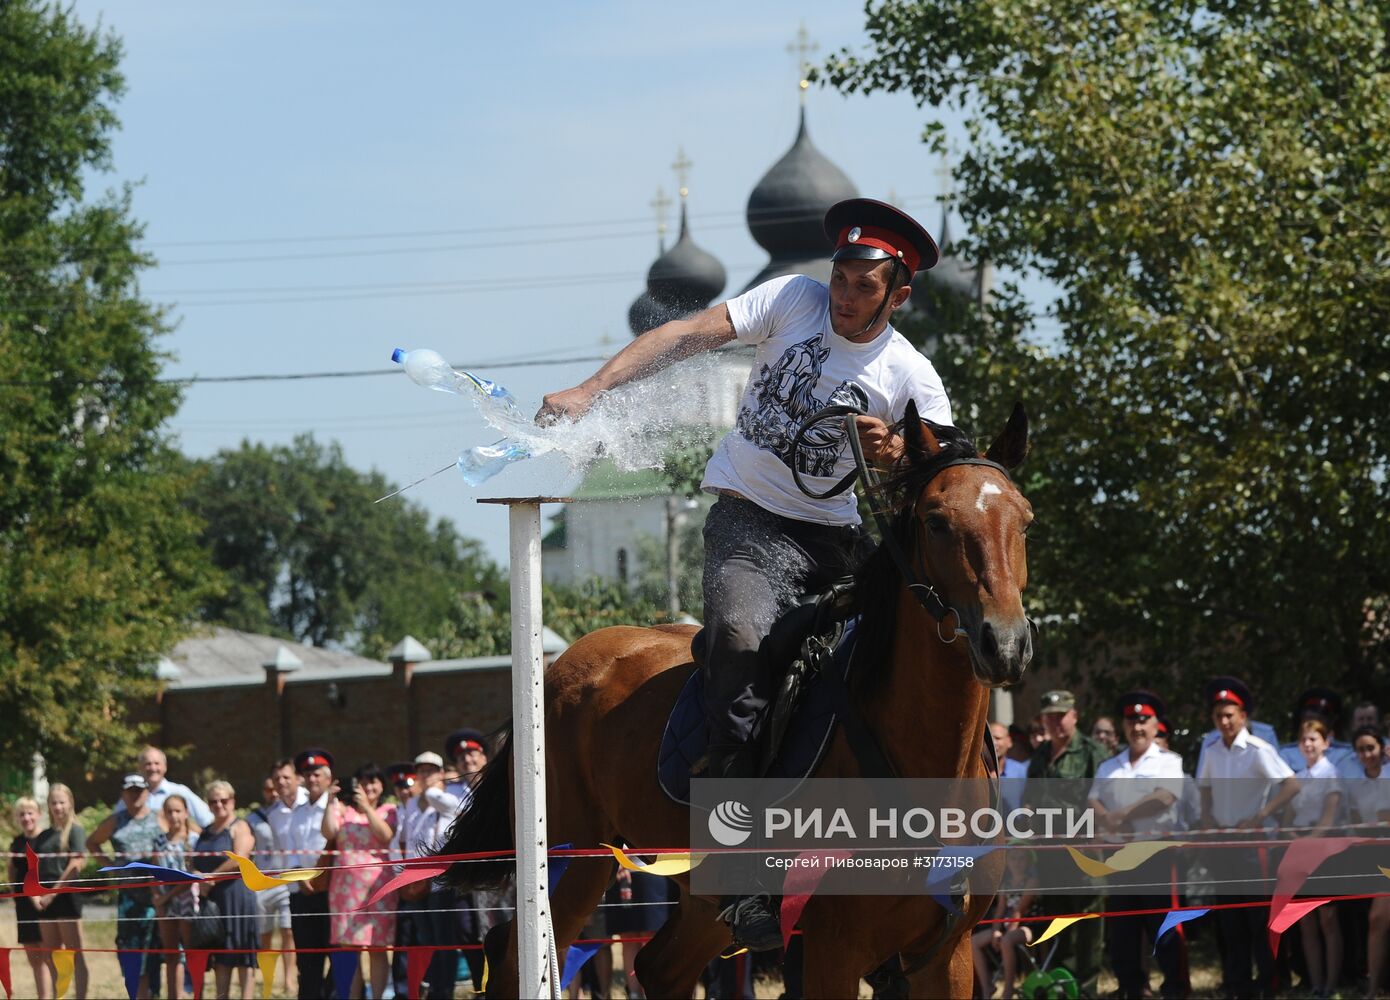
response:
<path id="1" fill-rule="evenodd" d="M 705 520 L 705 719 L 710 748 L 746 745 L 773 695 L 760 647 L 803 592 L 852 573 L 865 552 L 858 526 L 781 517 L 720 497 Z"/>

